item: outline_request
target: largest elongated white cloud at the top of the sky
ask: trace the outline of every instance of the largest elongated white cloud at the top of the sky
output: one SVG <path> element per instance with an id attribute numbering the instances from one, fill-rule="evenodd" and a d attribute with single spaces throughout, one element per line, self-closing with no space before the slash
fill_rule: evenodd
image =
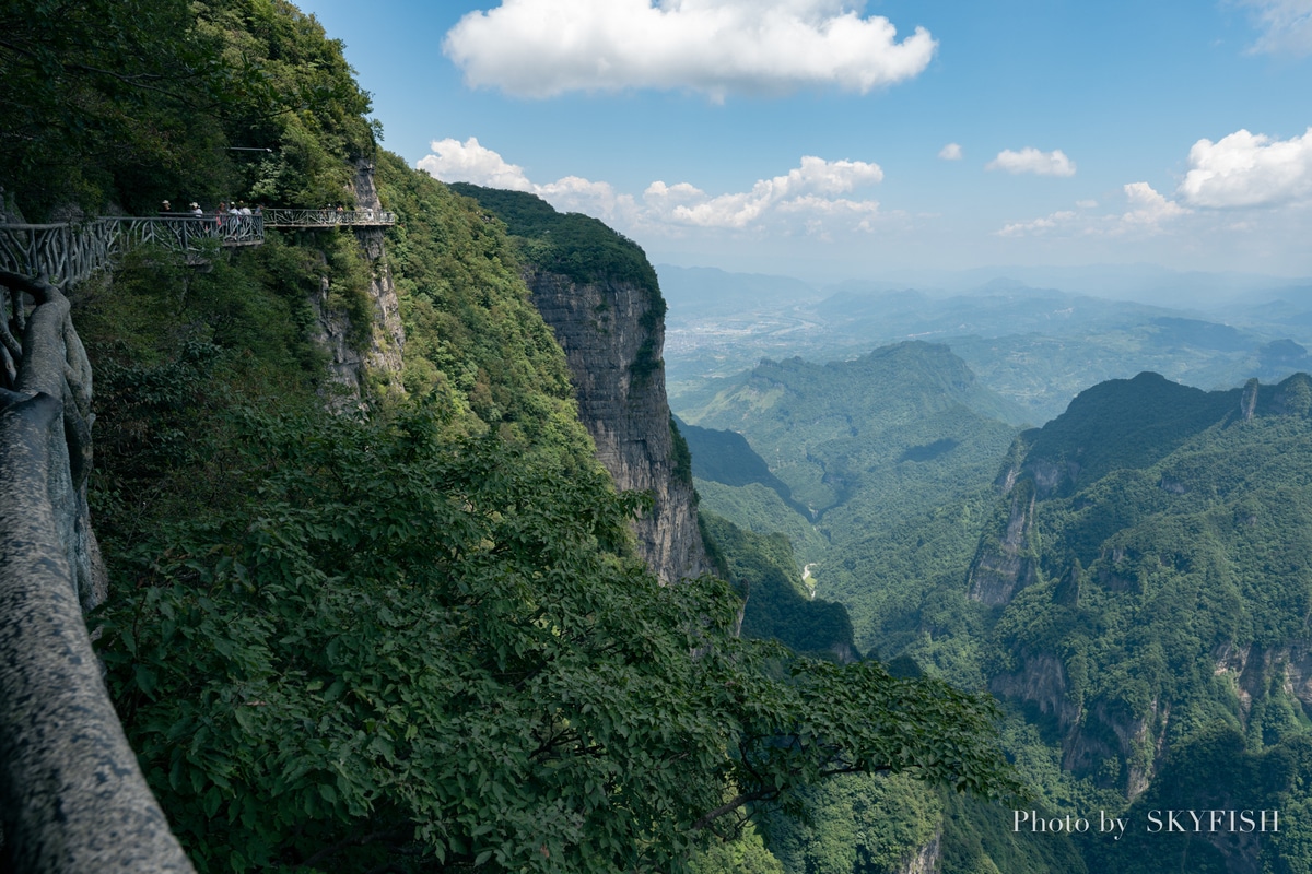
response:
<path id="1" fill-rule="evenodd" d="M 882 16 L 842 0 L 502 0 L 471 12 L 442 51 L 471 86 L 523 97 L 690 88 L 779 93 L 836 85 L 867 93 L 917 76 L 937 46 L 897 42 Z M 859 5 L 859 4 L 858 4 Z"/>

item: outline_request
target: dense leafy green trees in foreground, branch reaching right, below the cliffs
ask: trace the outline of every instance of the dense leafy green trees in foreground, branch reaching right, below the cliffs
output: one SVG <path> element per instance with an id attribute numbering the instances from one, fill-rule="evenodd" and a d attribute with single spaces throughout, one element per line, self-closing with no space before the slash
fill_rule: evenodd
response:
<path id="1" fill-rule="evenodd" d="M 723 583 L 615 557 L 632 501 L 601 478 L 428 415 L 232 427 L 253 503 L 146 536 L 104 625 L 198 867 L 670 871 L 828 774 L 1012 785 L 981 698 L 875 663 L 768 676 Z"/>

